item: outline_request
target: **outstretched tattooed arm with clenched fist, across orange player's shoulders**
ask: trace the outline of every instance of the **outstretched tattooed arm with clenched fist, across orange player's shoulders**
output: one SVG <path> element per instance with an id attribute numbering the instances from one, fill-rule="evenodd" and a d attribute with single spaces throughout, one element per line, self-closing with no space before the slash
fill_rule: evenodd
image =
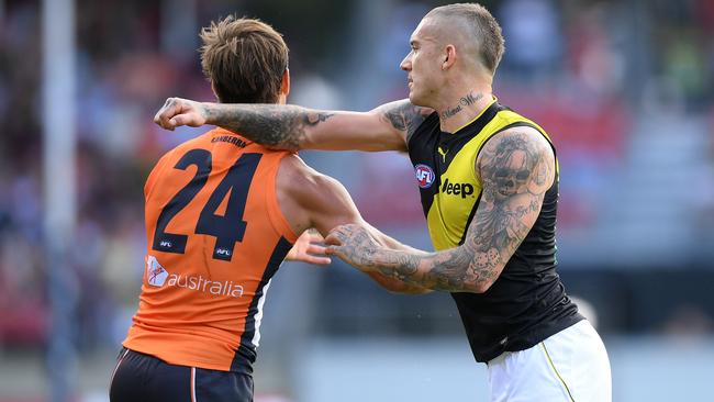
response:
<path id="1" fill-rule="evenodd" d="M 406 138 L 431 112 L 409 100 L 360 113 L 169 98 L 154 121 L 167 130 L 180 125 L 217 125 L 279 149 L 406 150 Z"/>

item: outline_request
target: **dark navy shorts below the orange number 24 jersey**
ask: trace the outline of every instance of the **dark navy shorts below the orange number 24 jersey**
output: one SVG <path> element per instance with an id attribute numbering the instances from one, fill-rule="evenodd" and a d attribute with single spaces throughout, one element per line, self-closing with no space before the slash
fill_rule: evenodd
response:
<path id="1" fill-rule="evenodd" d="M 111 402 L 252 402 L 250 375 L 175 366 L 123 348 L 109 390 Z"/>

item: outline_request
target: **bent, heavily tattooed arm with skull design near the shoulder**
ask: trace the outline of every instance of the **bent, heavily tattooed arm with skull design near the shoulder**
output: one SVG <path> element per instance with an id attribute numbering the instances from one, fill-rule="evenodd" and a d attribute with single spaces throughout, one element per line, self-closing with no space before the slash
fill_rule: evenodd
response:
<path id="1" fill-rule="evenodd" d="M 380 247 L 368 227 L 345 225 L 327 236 L 331 253 L 360 270 L 426 289 L 486 292 L 533 227 L 555 180 L 555 156 L 535 130 L 515 127 L 486 143 L 477 171 L 483 192 L 461 246 L 395 252 Z"/>

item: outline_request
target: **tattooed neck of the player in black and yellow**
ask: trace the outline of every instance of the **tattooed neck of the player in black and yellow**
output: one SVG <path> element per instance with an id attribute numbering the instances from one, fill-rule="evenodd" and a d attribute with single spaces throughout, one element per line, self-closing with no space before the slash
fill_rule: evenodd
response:
<path id="1" fill-rule="evenodd" d="M 454 133 L 478 118 L 493 101 L 490 86 L 453 91 L 437 109 L 442 131 Z"/>

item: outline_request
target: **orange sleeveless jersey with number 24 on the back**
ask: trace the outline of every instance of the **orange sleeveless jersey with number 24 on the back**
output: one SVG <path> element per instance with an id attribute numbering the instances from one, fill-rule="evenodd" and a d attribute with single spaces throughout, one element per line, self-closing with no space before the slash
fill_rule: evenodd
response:
<path id="1" fill-rule="evenodd" d="M 148 252 L 126 348 L 253 371 L 270 278 L 297 239 L 276 199 L 286 155 L 216 129 L 161 157 L 144 188 Z"/>

